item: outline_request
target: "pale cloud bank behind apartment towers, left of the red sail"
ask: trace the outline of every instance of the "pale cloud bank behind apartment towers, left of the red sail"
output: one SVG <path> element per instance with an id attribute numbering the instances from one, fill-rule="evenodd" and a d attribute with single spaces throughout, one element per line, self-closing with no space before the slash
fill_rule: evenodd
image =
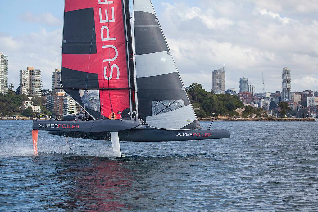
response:
<path id="1" fill-rule="evenodd" d="M 0 35 L 0 49 L 9 56 L 9 83 L 19 86 L 19 70 L 34 66 L 42 70 L 43 89 L 51 89 L 52 72 L 60 68 L 62 29 L 17 37 Z"/>

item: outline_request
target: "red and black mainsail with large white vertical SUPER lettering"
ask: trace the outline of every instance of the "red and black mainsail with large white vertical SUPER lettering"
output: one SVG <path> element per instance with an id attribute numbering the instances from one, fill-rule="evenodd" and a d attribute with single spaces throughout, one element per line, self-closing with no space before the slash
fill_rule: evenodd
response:
<path id="1" fill-rule="evenodd" d="M 126 12 L 124 0 L 65 0 L 62 87 L 94 119 L 131 110 Z"/>

